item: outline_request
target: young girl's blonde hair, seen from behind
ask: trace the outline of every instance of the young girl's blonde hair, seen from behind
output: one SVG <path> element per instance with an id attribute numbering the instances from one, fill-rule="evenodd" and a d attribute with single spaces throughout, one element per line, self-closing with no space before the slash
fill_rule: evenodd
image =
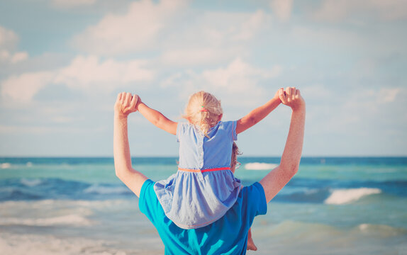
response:
<path id="1" fill-rule="evenodd" d="M 198 126 L 204 135 L 207 135 L 208 130 L 218 123 L 221 114 L 223 114 L 221 101 L 208 92 L 199 91 L 189 97 L 182 117 Z"/>

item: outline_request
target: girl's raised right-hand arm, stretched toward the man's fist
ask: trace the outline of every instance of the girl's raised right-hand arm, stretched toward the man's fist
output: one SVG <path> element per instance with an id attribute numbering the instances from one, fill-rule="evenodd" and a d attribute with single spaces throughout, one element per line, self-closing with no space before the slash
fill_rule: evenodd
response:
<path id="1" fill-rule="evenodd" d="M 255 108 L 255 110 L 238 120 L 238 123 L 236 124 L 236 133 L 239 134 L 249 128 L 252 128 L 253 125 L 257 124 L 260 120 L 264 119 L 267 115 L 269 115 L 269 113 L 277 108 L 277 106 L 279 106 L 281 103 L 279 98 L 279 91 L 281 90 L 284 91 L 284 89 L 279 89 L 274 95 L 274 98 L 270 99 L 267 103 L 264 103 L 264 105 Z"/>

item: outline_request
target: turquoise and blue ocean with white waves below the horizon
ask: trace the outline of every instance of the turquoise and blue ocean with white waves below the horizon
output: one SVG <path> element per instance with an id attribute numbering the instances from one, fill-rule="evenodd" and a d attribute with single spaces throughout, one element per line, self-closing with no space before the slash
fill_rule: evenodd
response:
<path id="1" fill-rule="evenodd" d="M 240 157 L 260 181 L 274 157 Z M 133 158 L 153 181 L 175 157 Z M 299 173 L 255 218 L 247 254 L 407 254 L 407 157 L 303 157 Z M 0 254 L 164 254 L 112 158 L 0 158 Z"/>

